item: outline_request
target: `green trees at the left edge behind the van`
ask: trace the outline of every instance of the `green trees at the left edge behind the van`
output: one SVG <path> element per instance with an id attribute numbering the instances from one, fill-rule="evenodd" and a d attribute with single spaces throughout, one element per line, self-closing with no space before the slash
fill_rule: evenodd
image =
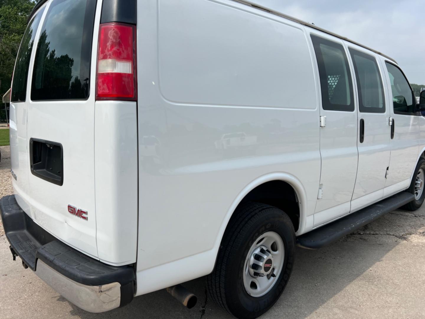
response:
<path id="1" fill-rule="evenodd" d="M 33 0 L 0 0 L 0 95 L 10 88 L 19 45 L 35 3 Z"/>

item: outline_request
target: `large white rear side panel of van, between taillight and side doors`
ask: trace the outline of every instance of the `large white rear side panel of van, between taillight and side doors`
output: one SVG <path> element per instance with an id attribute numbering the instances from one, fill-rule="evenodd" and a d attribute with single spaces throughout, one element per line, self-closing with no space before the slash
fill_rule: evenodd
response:
<path id="1" fill-rule="evenodd" d="M 304 231 L 319 185 L 320 114 L 302 26 L 234 1 L 138 6 L 139 140 L 155 136 L 162 154 L 139 163 L 142 294 L 212 271 L 235 207 L 267 180 L 294 185 Z M 224 134 L 241 132 L 257 143 L 217 152 Z M 153 279 L 166 269 L 168 280 Z"/>

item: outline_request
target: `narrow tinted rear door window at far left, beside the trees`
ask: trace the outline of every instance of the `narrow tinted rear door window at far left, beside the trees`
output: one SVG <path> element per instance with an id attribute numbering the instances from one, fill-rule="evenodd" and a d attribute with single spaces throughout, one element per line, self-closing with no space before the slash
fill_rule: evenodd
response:
<path id="1" fill-rule="evenodd" d="M 16 57 L 15 71 L 13 73 L 11 102 L 23 102 L 26 100 L 26 88 L 28 80 L 29 60 L 31 58 L 34 38 L 43 15 L 44 8 L 37 12 L 25 30 L 21 46 Z"/>

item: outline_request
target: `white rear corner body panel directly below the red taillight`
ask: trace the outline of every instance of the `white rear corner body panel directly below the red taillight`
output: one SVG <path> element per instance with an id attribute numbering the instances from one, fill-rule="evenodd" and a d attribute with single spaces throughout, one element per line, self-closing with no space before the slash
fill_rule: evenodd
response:
<path id="1" fill-rule="evenodd" d="M 128 265 L 137 249 L 136 102 L 97 101 L 94 140 L 99 259 Z"/>

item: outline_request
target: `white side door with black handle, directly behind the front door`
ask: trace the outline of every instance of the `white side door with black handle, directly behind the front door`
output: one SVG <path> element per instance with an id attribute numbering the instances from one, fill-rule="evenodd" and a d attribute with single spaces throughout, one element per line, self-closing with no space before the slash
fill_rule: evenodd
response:
<path id="1" fill-rule="evenodd" d="M 358 98 L 359 161 L 351 212 L 383 197 L 386 172 L 390 161 L 389 109 L 385 107 L 382 66 L 378 55 L 352 43 L 350 52 L 356 77 Z"/>

